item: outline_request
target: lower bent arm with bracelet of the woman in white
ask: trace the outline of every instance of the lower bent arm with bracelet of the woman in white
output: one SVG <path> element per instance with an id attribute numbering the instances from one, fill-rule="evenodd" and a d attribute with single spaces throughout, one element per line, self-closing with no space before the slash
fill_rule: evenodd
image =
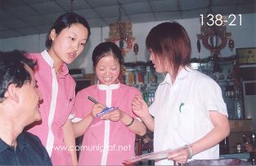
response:
<path id="1" fill-rule="evenodd" d="M 208 150 L 209 148 L 216 146 L 229 135 L 230 127 L 226 115 L 221 114 L 218 111 L 209 111 L 209 117 L 213 123 L 213 129 L 200 140 L 189 145 L 190 148 L 178 151 L 173 155 L 169 155 L 168 159 L 173 159 L 180 164 L 184 164 L 190 156 L 189 149 L 191 149 L 192 155 L 199 154 L 204 150 Z"/>

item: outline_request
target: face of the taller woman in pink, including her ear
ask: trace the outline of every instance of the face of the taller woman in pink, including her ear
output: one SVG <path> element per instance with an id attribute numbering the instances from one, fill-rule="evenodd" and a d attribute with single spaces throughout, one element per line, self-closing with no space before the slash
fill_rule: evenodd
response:
<path id="1" fill-rule="evenodd" d="M 55 29 L 52 29 L 50 38 L 52 47 L 48 52 L 52 59 L 56 63 L 70 64 L 83 52 L 88 39 L 88 29 L 82 24 L 75 23 L 61 30 L 60 34 L 56 34 Z"/>

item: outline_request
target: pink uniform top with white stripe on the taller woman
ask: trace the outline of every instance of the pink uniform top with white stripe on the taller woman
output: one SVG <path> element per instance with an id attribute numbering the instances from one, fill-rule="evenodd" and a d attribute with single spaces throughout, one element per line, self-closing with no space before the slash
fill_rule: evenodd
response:
<path id="1" fill-rule="evenodd" d="M 70 152 L 65 150 L 67 147 L 61 127 L 67 119 L 74 118 L 71 113 L 75 94 L 74 79 L 65 64 L 61 66 L 61 74 L 56 76 L 53 60 L 46 50 L 41 53 L 29 53 L 28 56 L 38 62 L 34 74 L 43 98 L 43 103 L 39 105 L 42 121 L 33 123 L 29 132 L 40 138 L 51 156 L 52 164 L 71 165 Z"/>

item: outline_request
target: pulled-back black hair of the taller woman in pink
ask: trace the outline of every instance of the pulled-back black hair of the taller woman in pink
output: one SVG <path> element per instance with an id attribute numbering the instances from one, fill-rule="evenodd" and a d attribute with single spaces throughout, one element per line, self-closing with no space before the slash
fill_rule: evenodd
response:
<path id="1" fill-rule="evenodd" d="M 74 12 L 67 12 L 55 21 L 55 23 L 52 25 L 52 28 L 50 29 L 50 32 L 47 34 L 47 40 L 45 43 L 45 46 L 47 49 L 50 49 L 52 47 L 52 39 L 50 38 L 50 34 L 52 29 L 55 29 L 56 34 L 60 34 L 61 30 L 70 27 L 71 25 L 79 23 L 83 25 L 86 29 L 88 29 L 88 38 L 90 37 L 91 30 L 90 26 L 88 24 L 88 21 L 83 18 L 83 16 L 79 16 L 78 14 Z M 87 39 L 88 39 L 87 38 Z"/>

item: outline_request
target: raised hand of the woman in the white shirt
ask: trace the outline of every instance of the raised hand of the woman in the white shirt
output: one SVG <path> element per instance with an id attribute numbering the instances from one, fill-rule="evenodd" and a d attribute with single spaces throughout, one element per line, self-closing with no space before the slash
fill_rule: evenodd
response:
<path id="1" fill-rule="evenodd" d="M 132 100 L 132 112 L 141 119 L 150 115 L 146 102 L 138 96 L 135 96 Z"/>

